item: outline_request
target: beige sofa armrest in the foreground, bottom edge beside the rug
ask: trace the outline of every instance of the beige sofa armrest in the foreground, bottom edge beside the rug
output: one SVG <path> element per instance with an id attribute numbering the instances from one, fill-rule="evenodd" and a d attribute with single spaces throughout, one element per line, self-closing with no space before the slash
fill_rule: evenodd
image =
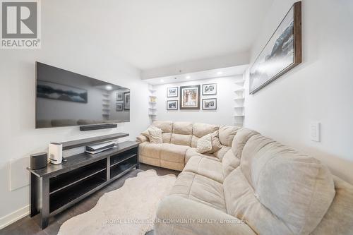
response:
<path id="1" fill-rule="evenodd" d="M 177 195 L 164 198 L 155 221 L 155 235 L 256 235 L 244 222 L 208 205 Z"/>

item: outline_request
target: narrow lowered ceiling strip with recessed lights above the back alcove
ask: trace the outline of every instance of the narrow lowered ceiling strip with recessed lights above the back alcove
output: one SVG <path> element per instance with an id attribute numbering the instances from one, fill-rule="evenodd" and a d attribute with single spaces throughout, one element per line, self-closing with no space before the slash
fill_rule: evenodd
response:
<path id="1" fill-rule="evenodd" d="M 145 79 L 145 82 L 152 85 L 169 84 L 169 83 L 181 83 L 189 80 L 200 80 L 208 78 L 225 78 L 229 76 L 241 75 L 246 71 L 249 65 L 232 66 L 229 68 L 217 68 L 208 71 L 199 71 L 196 73 L 184 73 L 175 76 L 166 76 L 161 78 L 150 78 Z"/>

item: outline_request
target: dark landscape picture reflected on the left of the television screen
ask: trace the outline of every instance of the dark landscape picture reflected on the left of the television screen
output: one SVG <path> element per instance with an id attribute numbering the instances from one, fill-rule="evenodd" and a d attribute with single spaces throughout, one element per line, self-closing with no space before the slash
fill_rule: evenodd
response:
<path id="1" fill-rule="evenodd" d="M 37 97 L 78 103 L 88 102 L 87 90 L 44 80 L 37 80 Z"/>

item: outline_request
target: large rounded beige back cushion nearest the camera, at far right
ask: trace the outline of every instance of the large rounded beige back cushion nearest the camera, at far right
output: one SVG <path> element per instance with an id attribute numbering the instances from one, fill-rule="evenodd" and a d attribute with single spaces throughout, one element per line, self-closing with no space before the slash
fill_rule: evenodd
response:
<path id="1" fill-rule="evenodd" d="M 248 191 L 261 204 L 256 207 L 258 215 L 267 215 L 268 210 L 278 218 L 273 220 L 275 224 L 263 224 L 258 216 L 249 213 L 244 219 L 252 227 L 270 231 L 267 226 L 281 227 L 283 222 L 291 234 L 310 234 L 316 228 L 335 196 L 333 176 L 324 164 L 262 135 L 253 135 L 248 140 L 240 161 L 235 171 L 240 169 Z M 229 188 L 227 183 L 225 187 Z M 232 198 L 232 193 L 227 194 Z M 240 204 L 245 202 L 234 199 L 229 203 L 229 210 L 237 216 L 237 208 L 244 207 Z"/>

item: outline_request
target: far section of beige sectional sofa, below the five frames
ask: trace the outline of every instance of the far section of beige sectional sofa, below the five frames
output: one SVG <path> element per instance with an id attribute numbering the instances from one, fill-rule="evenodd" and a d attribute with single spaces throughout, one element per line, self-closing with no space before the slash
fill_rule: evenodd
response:
<path id="1" fill-rule="evenodd" d="M 238 127 L 216 126 L 205 123 L 155 121 L 153 126 L 162 129 L 162 144 L 150 143 L 144 135 L 138 136 L 140 142 L 140 162 L 157 167 L 182 171 L 191 156 L 201 155 L 196 151 L 197 140 L 203 135 L 219 131 L 222 148 L 209 155 L 221 161 L 230 149 Z"/>

